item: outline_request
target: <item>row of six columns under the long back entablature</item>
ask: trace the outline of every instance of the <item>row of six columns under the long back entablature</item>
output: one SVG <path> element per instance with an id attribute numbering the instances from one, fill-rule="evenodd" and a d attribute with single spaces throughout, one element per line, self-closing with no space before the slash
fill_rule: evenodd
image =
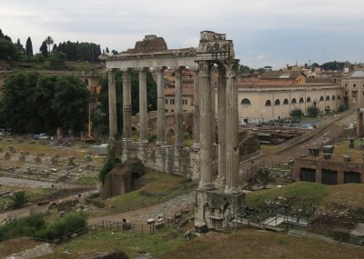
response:
<path id="1" fill-rule="evenodd" d="M 165 112 L 165 82 L 164 71 L 166 67 L 154 69 L 157 74 L 157 145 L 167 144 L 166 141 L 166 112 Z M 183 66 L 175 69 L 175 145 L 183 146 L 183 109 L 182 109 L 182 70 Z M 147 142 L 147 71 L 139 70 L 139 141 Z M 131 127 L 131 70 L 122 71 L 123 74 L 123 140 L 132 139 Z M 196 81 L 196 80 L 195 80 Z M 197 84 L 198 85 L 198 84 Z M 198 87 L 197 87 L 198 90 Z M 196 90 L 196 91 L 197 91 Z M 198 92 L 198 91 L 197 91 Z M 197 93 L 198 97 L 198 93 Z M 108 100 L 109 100 L 109 135 L 114 137 L 117 133 L 116 125 L 116 71 L 108 72 Z M 198 99 L 194 101 L 195 115 L 198 113 Z M 195 119 L 199 116 L 196 115 Z M 199 139 L 199 123 L 194 127 L 195 141 Z"/>

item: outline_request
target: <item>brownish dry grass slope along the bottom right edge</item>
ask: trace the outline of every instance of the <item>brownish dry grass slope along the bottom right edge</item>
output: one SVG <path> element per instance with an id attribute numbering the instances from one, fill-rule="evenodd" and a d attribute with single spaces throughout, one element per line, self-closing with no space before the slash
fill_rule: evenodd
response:
<path id="1" fill-rule="evenodd" d="M 178 254 L 176 256 L 176 254 Z M 158 258 L 363 258 L 362 248 L 329 244 L 322 240 L 295 238 L 246 229 L 234 234 L 209 233 L 186 242 Z"/>

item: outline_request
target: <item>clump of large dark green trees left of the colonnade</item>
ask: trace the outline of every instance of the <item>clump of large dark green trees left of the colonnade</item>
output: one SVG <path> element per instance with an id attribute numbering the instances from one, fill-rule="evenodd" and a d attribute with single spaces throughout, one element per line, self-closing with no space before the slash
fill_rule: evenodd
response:
<path id="1" fill-rule="evenodd" d="M 55 134 L 86 128 L 89 91 L 76 75 L 17 73 L 6 78 L 0 125 L 16 133 Z"/>

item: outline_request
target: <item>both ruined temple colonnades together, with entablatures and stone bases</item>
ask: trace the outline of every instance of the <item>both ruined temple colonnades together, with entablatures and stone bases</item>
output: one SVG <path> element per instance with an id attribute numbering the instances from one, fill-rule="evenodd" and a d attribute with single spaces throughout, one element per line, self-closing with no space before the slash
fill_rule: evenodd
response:
<path id="1" fill-rule="evenodd" d="M 167 173 L 199 179 L 196 193 L 196 223 L 222 229 L 242 212 L 244 194 L 238 189 L 238 60 L 233 42 L 224 34 L 203 31 L 197 48 L 167 49 L 163 38 L 147 35 L 132 50 L 102 55 L 108 69 L 109 136 L 116 134 L 116 70 L 123 73 L 123 142 L 121 160 L 139 158 L 147 166 Z M 215 144 L 214 86 L 211 69 L 218 69 L 217 129 Z M 166 142 L 166 115 L 163 72 L 167 67 L 176 75 L 176 142 Z M 195 73 L 193 147 L 183 145 L 182 73 L 188 67 Z M 131 134 L 130 70 L 139 71 L 138 143 Z M 147 71 L 157 73 L 157 146 L 147 148 Z M 215 147 L 217 146 L 218 149 Z M 217 155 L 217 167 L 214 157 Z M 216 174 L 217 172 L 217 174 Z"/>

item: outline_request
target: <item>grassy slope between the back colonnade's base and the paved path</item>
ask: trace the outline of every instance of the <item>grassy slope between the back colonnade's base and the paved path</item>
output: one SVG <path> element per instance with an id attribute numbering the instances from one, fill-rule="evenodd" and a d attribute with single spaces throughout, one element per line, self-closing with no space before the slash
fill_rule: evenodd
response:
<path id="1" fill-rule="evenodd" d="M 162 203 L 192 192 L 197 186 L 182 176 L 150 171 L 140 177 L 140 184 L 139 190 L 111 198 L 101 214 L 122 213 Z"/>

